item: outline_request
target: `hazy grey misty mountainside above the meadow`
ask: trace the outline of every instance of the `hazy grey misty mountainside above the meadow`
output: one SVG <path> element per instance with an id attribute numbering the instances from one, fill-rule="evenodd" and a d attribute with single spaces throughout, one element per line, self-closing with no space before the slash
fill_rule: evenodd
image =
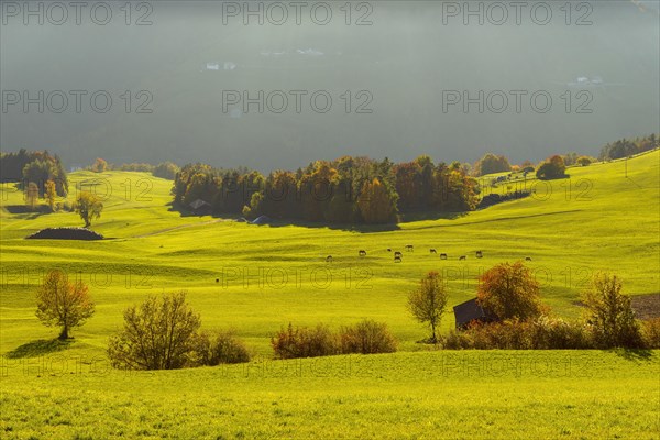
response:
<path id="1" fill-rule="evenodd" d="M 344 154 L 473 162 L 492 151 L 537 161 L 573 150 L 595 154 L 609 141 L 660 131 L 657 2 L 592 2 L 592 11 L 573 3 L 570 25 L 559 2 L 547 2 L 553 15 L 544 25 L 529 10 L 520 24 L 515 16 L 493 24 L 488 19 L 499 14 L 492 11 L 483 25 L 470 16 L 465 25 L 443 3 L 372 2 L 373 11 L 353 3 L 351 25 L 340 3 L 327 25 L 309 13 L 300 25 L 293 16 L 283 25 L 245 25 L 213 2 L 154 2 L 153 23 L 141 26 L 125 25 L 119 7 L 108 25 L 85 14 L 81 25 L 24 25 L 3 10 L 0 146 L 48 148 L 69 165 L 100 156 L 270 170 Z M 354 25 L 365 13 L 372 24 Z M 131 20 L 141 14 L 133 11 Z M 64 91 L 68 107 L 53 111 L 54 97 L 43 113 L 37 105 L 25 112 L 8 95 L 25 90 Z M 80 112 L 72 90 L 88 92 Z M 90 107 L 99 90 L 112 98 L 106 113 Z M 232 90 L 280 90 L 288 108 L 273 111 L 278 94 L 263 113 L 256 105 L 227 103 Z M 300 112 L 292 90 L 307 92 Z M 479 103 L 468 111 L 449 103 L 465 90 L 472 98 L 484 91 L 483 112 Z M 312 109 L 315 91 L 323 91 L 321 107 L 323 96 L 332 98 L 328 112 Z M 535 92 L 539 108 L 551 97 L 547 112 L 532 107 Z M 502 96 L 508 107 L 497 112 Z M 141 103 L 152 112 L 138 112 Z M 360 106 L 371 112 L 358 113 Z"/>

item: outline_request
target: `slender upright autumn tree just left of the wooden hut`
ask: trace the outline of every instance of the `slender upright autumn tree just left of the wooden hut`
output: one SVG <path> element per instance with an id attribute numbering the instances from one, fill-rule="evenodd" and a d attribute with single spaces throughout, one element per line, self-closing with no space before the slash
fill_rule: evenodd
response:
<path id="1" fill-rule="evenodd" d="M 408 295 L 408 310 L 419 322 L 428 323 L 431 328 L 429 341 L 438 341 L 436 329 L 447 308 L 447 290 L 438 272 L 429 272 L 421 278 L 420 286 Z"/>

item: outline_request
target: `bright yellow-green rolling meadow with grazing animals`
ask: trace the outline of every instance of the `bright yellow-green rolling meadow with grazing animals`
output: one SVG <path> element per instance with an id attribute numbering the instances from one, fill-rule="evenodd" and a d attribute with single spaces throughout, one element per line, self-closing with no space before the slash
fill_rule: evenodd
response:
<path id="1" fill-rule="evenodd" d="M 580 316 L 580 292 L 597 271 L 619 275 L 629 295 L 660 292 L 660 152 L 568 174 L 485 188 L 534 193 L 474 212 L 342 229 L 186 217 L 168 205 L 172 182 L 72 173 L 69 202 L 80 188 L 105 199 L 92 229 L 106 240 L 97 242 L 24 240 L 82 221 L 21 212 L 22 193 L 2 184 L 0 437 L 658 438 L 657 352 L 438 352 L 416 342 L 428 330 L 406 296 L 431 270 L 443 274 L 450 307 L 475 296 L 485 270 L 526 257 L 542 299 L 565 318 Z M 404 252 L 402 263 L 388 248 Z M 57 329 L 34 314 L 36 288 L 54 268 L 87 283 L 97 306 L 67 344 L 48 342 Z M 105 350 L 123 310 L 177 290 L 202 328 L 234 329 L 254 361 L 111 370 Z M 399 352 L 272 360 L 270 337 L 289 322 L 339 328 L 363 318 L 387 323 Z M 442 329 L 453 326 L 450 309 Z"/>

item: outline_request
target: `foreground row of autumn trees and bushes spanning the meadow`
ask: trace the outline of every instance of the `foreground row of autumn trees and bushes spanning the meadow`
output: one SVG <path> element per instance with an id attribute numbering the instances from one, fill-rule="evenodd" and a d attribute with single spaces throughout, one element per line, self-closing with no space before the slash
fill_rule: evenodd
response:
<path id="1" fill-rule="evenodd" d="M 477 302 L 496 322 L 439 337 L 448 294 L 437 272 L 421 279 L 407 304 L 413 317 L 429 326 L 427 342 L 441 342 L 444 348 L 660 348 L 660 320 L 649 321 L 642 329 L 616 275 L 594 276 L 582 301 L 585 307 L 581 322 L 552 317 L 540 300 L 532 272 L 517 262 L 498 264 L 480 277 Z M 87 286 L 80 280 L 70 282 L 59 271 L 46 275 L 36 302 L 36 316 L 46 326 L 59 327 L 61 340 L 68 339 L 73 328 L 95 314 Z M 186 301 L 185 293 L 148 297 L 142 305 L 125 309 L 123 329 L 109 341 L 110 361 L 119 369 L 172 370 L 250 360 L 245 345 L 231 332 L 202 332 L 200 327 L 201 319 Z M 342 327 L 337 333 L 323 324 L 294 328 L 289 323 L 273 336 L 271 343 L 279 359 L 389 353 L 397 345 L 387 326 L 373 320 Z"/>

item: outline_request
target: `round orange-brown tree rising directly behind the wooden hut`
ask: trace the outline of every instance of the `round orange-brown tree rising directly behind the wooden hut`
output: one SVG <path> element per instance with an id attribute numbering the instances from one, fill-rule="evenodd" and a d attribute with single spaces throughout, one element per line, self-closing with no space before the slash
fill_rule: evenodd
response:
<path id="1" fill-rule="evenodd" d="M 544 311 L 539 298 L 539 283 L 521 262 L 498 264 L 479 280 L 479 304 L 499 319 L 525 321 Z"/>

